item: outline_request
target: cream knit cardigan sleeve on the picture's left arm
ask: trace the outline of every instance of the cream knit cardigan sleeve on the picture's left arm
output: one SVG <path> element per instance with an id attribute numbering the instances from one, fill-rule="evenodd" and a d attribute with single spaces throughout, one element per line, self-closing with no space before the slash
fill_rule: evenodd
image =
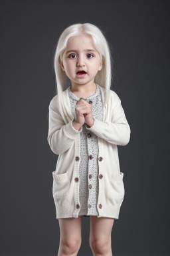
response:
<path id="1" fill-rule="evenodd" d="M 48 109 L 47 141 L 52 152 L 60 155 L 72 147 L 76 137 L 82 131 L 82 127 L 80 127 L 79 131 L 74 129 L 72 126 L 74 119 L 65 125 L 60 113 L 52 105 L 49 105 Z"/>

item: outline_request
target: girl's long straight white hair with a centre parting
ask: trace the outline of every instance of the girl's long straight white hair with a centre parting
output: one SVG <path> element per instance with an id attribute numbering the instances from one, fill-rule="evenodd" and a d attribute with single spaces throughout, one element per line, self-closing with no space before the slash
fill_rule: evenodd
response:
<path id="1" fill-rule="evenodd" d="M 62 55 L 66 48 L 67 41 L 70 37 L 80 35 L 80 33 L 86 33 L 91 35 L 94 42 L 94 46 L 98 53 L 100 53 L 100 60 L 102 60 L 102 69 L 98 71 L 96 77 L 94 77 L 94 83 L 97 83 L 101 87 L 106 89 L 104 105 L 108 101 L 110 87 L 112 85 L 112 75 L 114 61 L 110 52 L 110 44 L 104 37 L 101 29 L 91 23 L 76 23 L 70 25 L 60 35 L 54 54 L 54 71 L 56 76 L 56 94 L 58 94 L 58 107 L 62 109 L 62 91 L 69 87 L 70 79 L 66 76 L 66 73 L 62 71 L 60 63 L 62 63 Z"/>

